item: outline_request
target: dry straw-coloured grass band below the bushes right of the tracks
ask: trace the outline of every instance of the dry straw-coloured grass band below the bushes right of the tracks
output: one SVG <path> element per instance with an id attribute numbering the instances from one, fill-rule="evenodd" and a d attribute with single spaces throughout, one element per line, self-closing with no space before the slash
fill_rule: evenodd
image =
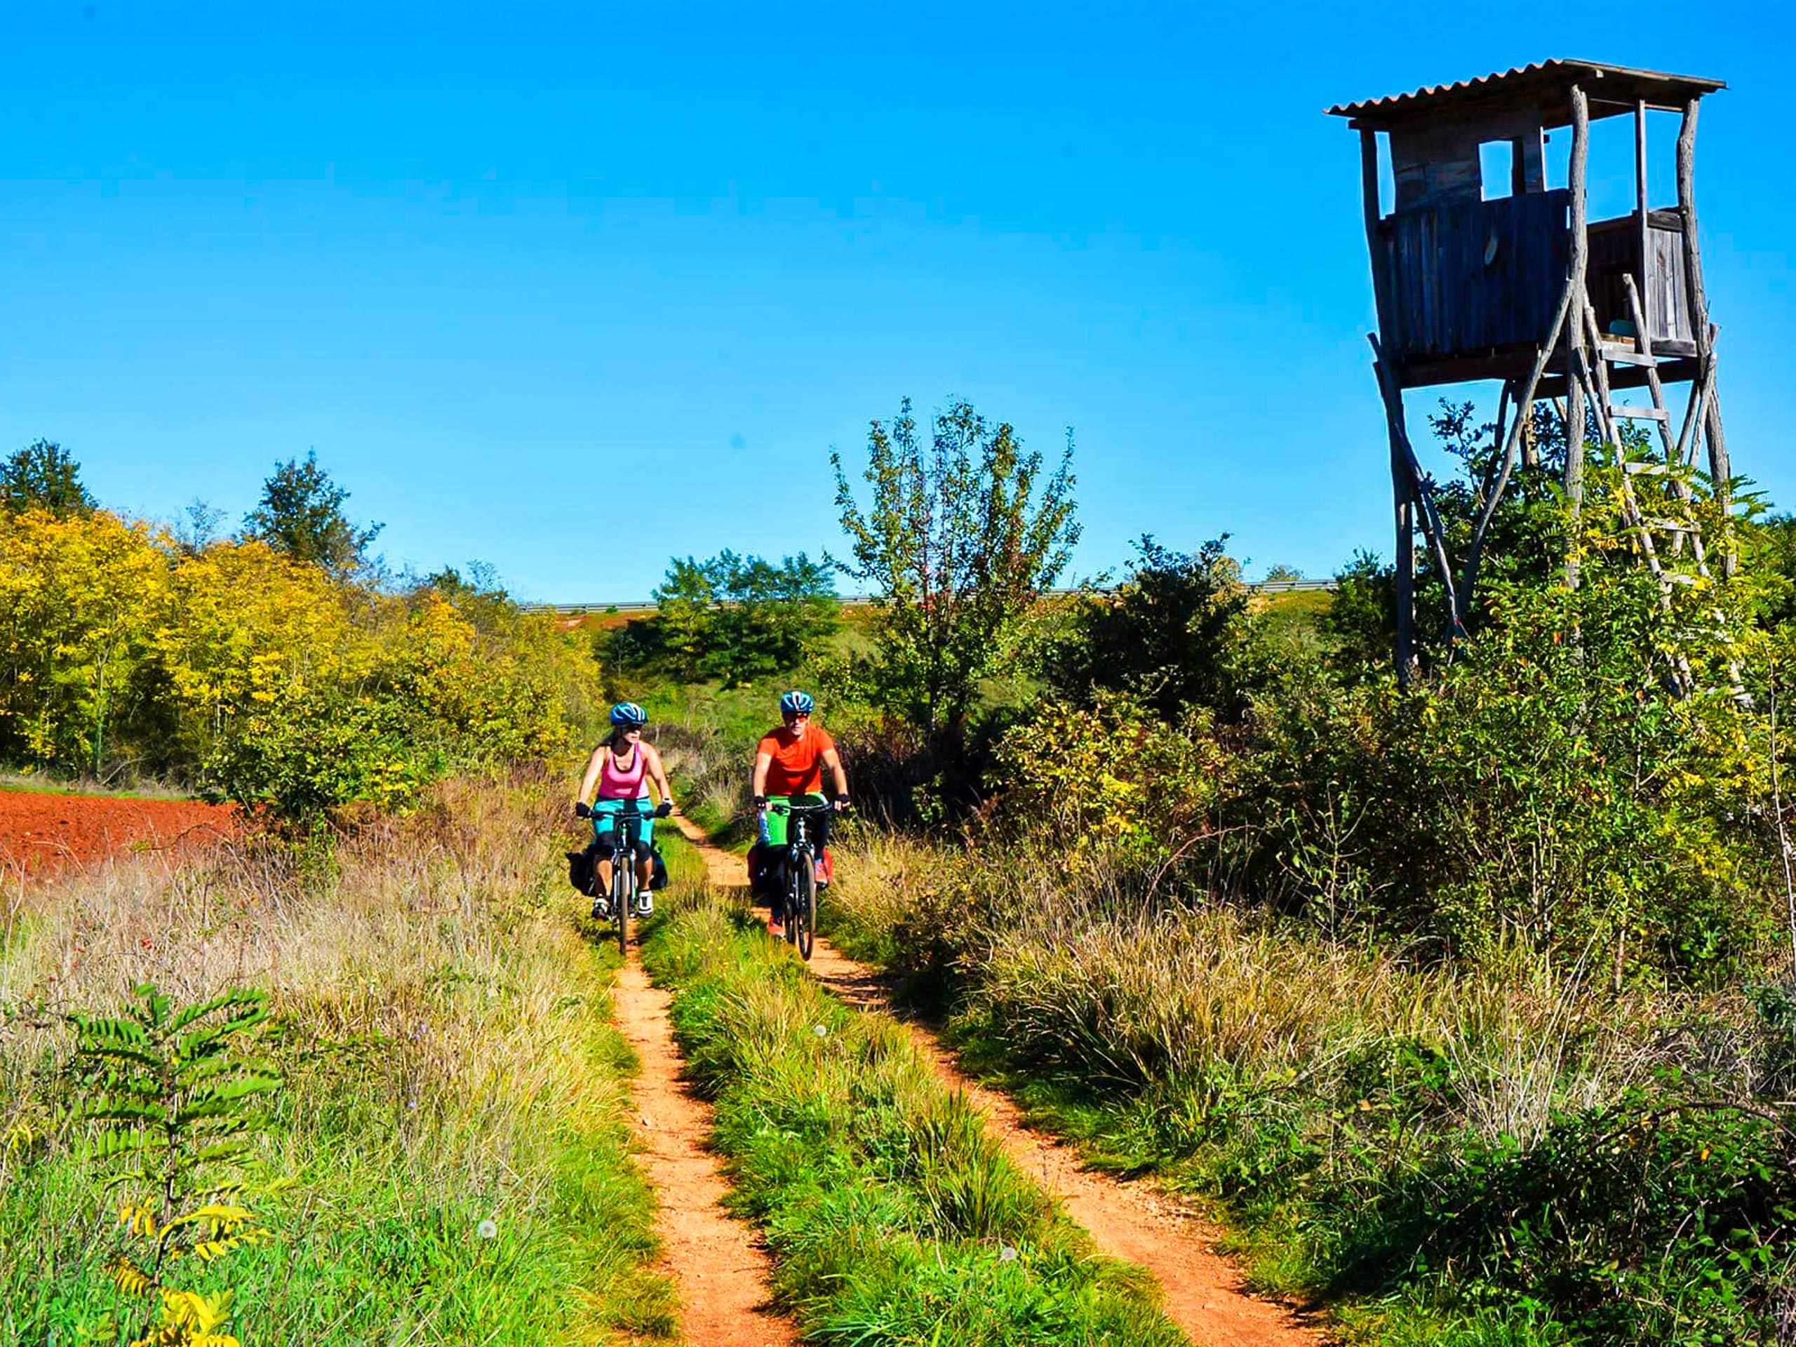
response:
<path id="1" fill-rule="evenodd" d="M 1451 1065 L 1457 1112 L 1440 1124 L 1527 1144 L 1554 1110 L 1688 1065 L 1692 1045 L 1660 1026 L 1717 1018 L 1692 995 L 1616 997 L 1580 968 L 1519 954 L 1415 966 L 1227 907 L 1157 907 L 1031 851 L 975 867 L 875 833 L 841 848 L 837 873 L 850 945 L 898 966 L 950 961 L 938 972 L 961 1013 L 1002 1024 L 1015 1056 L 1124 1090 L 1221 1067 L 1250 1088 L 1329 1094 L 1351 1063 L 1403 1043 Z"/>

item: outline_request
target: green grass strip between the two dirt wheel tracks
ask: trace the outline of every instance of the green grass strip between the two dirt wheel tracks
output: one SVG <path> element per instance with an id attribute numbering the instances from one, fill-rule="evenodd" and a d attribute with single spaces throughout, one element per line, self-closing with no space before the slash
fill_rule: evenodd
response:
<path id="1" fill-rule="evenodd" d="M 830 997 L 740 903 L 691 882 L 666 898 L 643 957 L 806 1340 L 1185 1342 L 1151 1279 L 1094 1250 L 902 1026 Z"/>

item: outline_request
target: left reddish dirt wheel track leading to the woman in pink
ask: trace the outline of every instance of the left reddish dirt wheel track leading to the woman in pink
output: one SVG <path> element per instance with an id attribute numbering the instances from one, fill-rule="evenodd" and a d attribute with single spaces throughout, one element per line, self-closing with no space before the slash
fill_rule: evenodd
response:
<path id="1" fill-rule="evenodd" d="M 790 1347 L 792 1324 L 769 1304 L 767 1250 L 724 1212 L 729 1185 L 704 1149 L 711 1110 L 679 1079 L 668 993 L 632 961 L 618 973 L 618 1027 L 643 1060 L 634 1085 L 638 1137 L 661 1211 L 663 1263 L 681 1300 L 681 1331 L 693 1347 Z"/>

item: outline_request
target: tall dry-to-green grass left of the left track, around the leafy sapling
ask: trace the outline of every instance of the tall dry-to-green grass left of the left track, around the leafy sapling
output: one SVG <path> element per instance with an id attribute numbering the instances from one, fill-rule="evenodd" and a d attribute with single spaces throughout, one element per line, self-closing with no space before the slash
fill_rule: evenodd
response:
<path id="1" fill-rule="evenodd" d="M 296 1184 L 233 1261 L 246 1343 L 670 1336 L 562 805 L 546 779 L 454 781 L 330 855 L 145 857 L 29 893 L 0 943 L 0 1133 L 34 1119 L 48 1144 L 0 1153 L 0 1340 L 74 1342 L 111 1304 L 108 1211 L 56 1124 L 61 1015 L 151 979 L 271 993 L 260 1160 Z"/>

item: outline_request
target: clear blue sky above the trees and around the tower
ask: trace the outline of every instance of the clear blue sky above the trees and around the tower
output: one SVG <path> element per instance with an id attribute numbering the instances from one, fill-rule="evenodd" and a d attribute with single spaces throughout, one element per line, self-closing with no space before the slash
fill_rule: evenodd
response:
<path id="1" fill-rule="evenodd" d="M 1365 13 L 9 5 L 0 451 L 235 523 L 313 449 L 395 568 L 612 600 L 841 550 L 830 447 L 964 395 L 1047 454 L 1074 427 L 1083 573 L 1227 530 L 1327 575 L 1390 553 L 1390 489 L 1324 108 L 1577 56 L 1730 83 L 1697 153 L 1728 442 L 1796 503 L 1796 9 Z"/>

